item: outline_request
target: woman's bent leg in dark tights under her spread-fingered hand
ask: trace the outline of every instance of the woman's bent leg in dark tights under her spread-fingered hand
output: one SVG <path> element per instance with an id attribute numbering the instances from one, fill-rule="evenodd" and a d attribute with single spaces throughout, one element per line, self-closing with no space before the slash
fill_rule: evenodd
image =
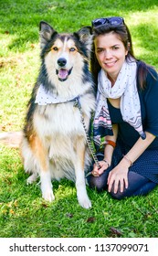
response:
<path id="1" fill-rule="evenodd" d="M 116 199 L 122 199 L 124 197 L 132 197 L 132 196 L 145 196 L 150 191 L 153 190 L 154 187 L 157 186 L 156 183 L 150 181 L 148 178 L 141 176 L 132 171 L 128 174 L 129 187 L 124 188 L 124 191 L 121 192 L 120 189 L 115 194 L 113 189 L 111 191 L 111 197 Z"/>

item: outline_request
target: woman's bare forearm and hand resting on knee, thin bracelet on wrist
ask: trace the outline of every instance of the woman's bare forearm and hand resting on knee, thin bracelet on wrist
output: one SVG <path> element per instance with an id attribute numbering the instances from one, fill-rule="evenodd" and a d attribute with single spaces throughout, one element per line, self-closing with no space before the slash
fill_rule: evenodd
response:
<path id="1" fill-rule="evenodd" d="M 114 193 L 118 192 L 119 183 L 121 185 L 121 192 L 124 190 L 124 186 L 128 187 L 128 170 L 137 158 L 142 155 L 145 149 L 152 144 L 155 136 L 152 133 L 146 133 L 146 139 L 139 138 L 138 141 L 132 146 L 132 149 L 127 155 L 122 157 L 119 165 L 114 167 L 108 177 L 108 191 L 111 192 L 111 187 L 114 183 Z"/>

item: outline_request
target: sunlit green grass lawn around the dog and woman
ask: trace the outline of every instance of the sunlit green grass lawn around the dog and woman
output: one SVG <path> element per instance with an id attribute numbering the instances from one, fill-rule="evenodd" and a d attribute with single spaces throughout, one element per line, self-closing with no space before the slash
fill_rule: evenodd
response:
<path id="1" fill-rule="evenodd" d="M 0 2 L 0 132 L 22 129 L 26 102 L 39 69 L 38 24 L 58 32 L 77 31 L 99 16 L 123 16 L 132 31 L 137 58 L 158 70 L 158 5 L 146 1 L 5 0 Z M 157 238 L 158 189 L 122 201 L 90 190 L 89 210 L 80 208 L 74 184 L 54 182 L 56 201 L 26 186 L 18 150 L 0 147 L 0 237 Z"/>

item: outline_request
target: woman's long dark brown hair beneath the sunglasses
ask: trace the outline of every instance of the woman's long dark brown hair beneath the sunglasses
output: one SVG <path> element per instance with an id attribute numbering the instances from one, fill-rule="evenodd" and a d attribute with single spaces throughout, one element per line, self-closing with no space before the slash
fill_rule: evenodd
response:
<path id="1" fill-rule="evenodd" d="M 116 33 L 121 38 L 121 42 L 124 45 L 124 48 L 128 50 L 128 54 L 126 55 L 126 61 L 130 62 L 133 59 L 135 59 L 136 62 L 138 62 L 138 69 L 137 69 L 137 80 L 138 84 L 140 86 L 140 89 L 144 89 L 146 85 L 146 76 L 148 72 L 148 65 L 139 59 L 136 59 L 133 53 L 132 48 L 132 36 L 130 33 L 129 28 L 125 24 L 121 25 L 101 25 L 100 27 L 93 27 L 92 33 L 93 33 L 93 44 L 91 49 L 91 58 L 90 58 L 90 70 L 93 75 L 94 82 L 97 85 L 98 82 L 98 73 L 100 71 L 100 64 L 98 62 L 98 59 L 95 55 L 95 46 L 94 46 L 94 39 L 100 35 L 105 35 L 110 32 Z"/>

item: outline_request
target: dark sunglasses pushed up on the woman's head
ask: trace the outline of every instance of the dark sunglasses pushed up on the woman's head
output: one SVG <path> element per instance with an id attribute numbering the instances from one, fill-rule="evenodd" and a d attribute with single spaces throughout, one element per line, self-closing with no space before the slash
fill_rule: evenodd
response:
<path id="1" fill-rule="evenodd" d="M 92 27 L 99 27 L 105 24 L 117 26 L 124 24 L 124 19 L 121 16 L 101 17 L 94 19 L 91 23 Z"/>

